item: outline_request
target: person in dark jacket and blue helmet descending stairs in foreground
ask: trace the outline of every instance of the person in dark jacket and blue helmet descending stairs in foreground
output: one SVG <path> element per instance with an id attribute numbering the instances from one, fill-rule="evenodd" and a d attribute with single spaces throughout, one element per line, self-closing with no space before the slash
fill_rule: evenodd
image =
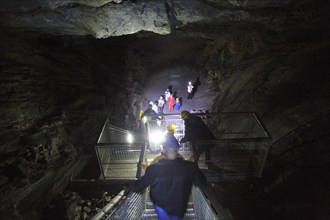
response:
<path id="1" fill-rule="evenodd" d="M 150 165 L 145 175 L 126 186 L 141 192 L 150 186 L 150 198 L 159 220 L 180 220 L 187 208 L 191 187 L 206 185 L 206 178 L 198 167 L 178 157 L 178 148 L 163 149 L 165 158 Z"/>

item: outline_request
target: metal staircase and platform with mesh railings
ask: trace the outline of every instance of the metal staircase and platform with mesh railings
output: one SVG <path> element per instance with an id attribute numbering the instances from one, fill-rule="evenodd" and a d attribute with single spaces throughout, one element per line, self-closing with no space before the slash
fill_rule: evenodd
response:
<path id="1" fill-rule="evenodd" d="M 211 146 L 211 161 L 205 161 L 202 155 L 198 164 L 208 181 L 237 180 L 249 175 L 261 175 L 267 158 L 267 143 L 270 136 L 255 113 L 216 113 L 199 116 L 217 139 L 184 144 L 179 153 L 188 158 L 191 155 L 192 144 Z M 127 181 L 143 175 L 143 169 L 137 164 L 148 163 L 156 156 L 155 152 L 160 151 L 161 139 L 153 139 L 152 135 L 155 132 L 164 132 L 169 124 L 177 126 L 175 135 L 181 139 L 185 128 L 178 115 L 164 115 L 160 121 L 147 122 L 147 131 L 143 133 L 147 134 L 147 137 L 114 127 L 107 119 L 96 145 L 101 169 L 100 178 Z M 211 162 L 213 168 L 206 166 L 206 162 Z M 157 219 L 148 191 L 142 194 L 129 192 L 125 196 L 123 192 L 120 194 L 116 205 L 111 205 L 111 209 L 102 209 L 103 213 L 98 213 L 93 220 Z M 184 219 L 215 220 L 232 217 L 208 187 L 201 189 L 194 186 Z"/>

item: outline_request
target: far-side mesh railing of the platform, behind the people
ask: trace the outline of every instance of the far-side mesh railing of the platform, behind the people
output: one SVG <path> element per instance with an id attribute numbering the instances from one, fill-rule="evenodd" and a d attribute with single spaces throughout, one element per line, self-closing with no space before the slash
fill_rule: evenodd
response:
<path id="1" fill-rule="evenodd" d="M 217 140 L 239 141 L 267 141 L 270 135 L 254 112 L 222 112 L 193 114 L 202 118 L 206 126 L 212 131 Z M 180 140 L 184 136 L 184 121 L 179 115 L 163 115 L 162 120 L 147 122 L 149 147 L 152 151 L 160 150 L 161 133 L 166 127 L 174 124 L 177 131 L 174 133 Z"/>

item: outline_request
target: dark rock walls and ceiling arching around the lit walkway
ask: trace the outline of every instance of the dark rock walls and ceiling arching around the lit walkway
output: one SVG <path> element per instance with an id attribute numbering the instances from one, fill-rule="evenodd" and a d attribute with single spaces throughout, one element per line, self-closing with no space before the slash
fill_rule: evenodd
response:
<path id="1" fill-rule="evenodd" d="M 317 0 L 0 1 L 1 212 L 38 210 L 61 192 L 94 153 L 106 115 L 134 129 L 149 76 L 176 68 L 205 74 L 213 111 L 259 114 L 273 137 L 267 190 L 329 163 L 329 9 Z"/>

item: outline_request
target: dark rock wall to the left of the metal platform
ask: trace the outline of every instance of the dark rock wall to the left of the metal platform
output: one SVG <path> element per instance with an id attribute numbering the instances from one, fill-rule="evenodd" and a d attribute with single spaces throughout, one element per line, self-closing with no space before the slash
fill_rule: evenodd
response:
<path id="1" fill-rule="evenodd" d="M 124 42 L 1 36 L 2 211 L 33 212 L 61 192 L 94 155 L 107 115 L 134 129 L 145 76 L 127 65 L 136 57 Z"/>

